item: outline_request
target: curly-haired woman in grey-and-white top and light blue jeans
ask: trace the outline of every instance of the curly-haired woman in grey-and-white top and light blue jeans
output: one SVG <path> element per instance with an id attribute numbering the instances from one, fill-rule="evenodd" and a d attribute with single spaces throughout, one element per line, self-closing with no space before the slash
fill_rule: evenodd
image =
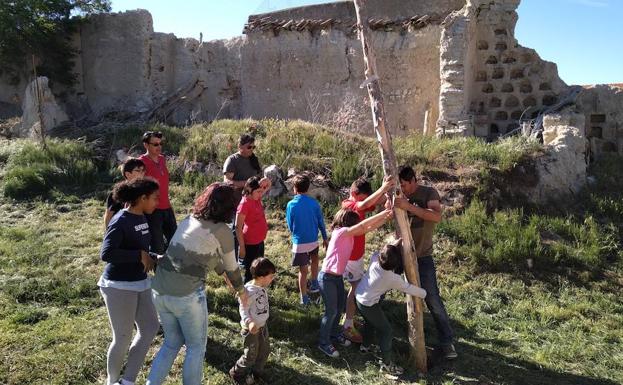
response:
<path id="1" fill-rule="evenodd" d="M 234 238 L 227 225 L 234 214 L 233 188 L 209 185 L 195 200 L 192 214 L 179 226 L 152 280 L 153 300 L 164 330 L 164 342 L 154 359 L 147 384 L 161 384 L 182 347 L 185 385 L 201 384 L 208 339 L 206 274 L 225 274 L 242 302 L 246 293 L 234 255 Z"/>

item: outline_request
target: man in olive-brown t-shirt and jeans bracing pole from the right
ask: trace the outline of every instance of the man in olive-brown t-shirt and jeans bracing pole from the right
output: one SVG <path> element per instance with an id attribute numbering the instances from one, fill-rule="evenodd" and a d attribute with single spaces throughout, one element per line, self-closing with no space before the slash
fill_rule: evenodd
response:
<path id="1" fill-rule="evenodd" d="M 426 290 L 426 306 L 437 327 L 438 339 L 446 359 L 457 357 L 454 349 L 454 332 L 446 312 L 433 261 L 433 231 L 441 222 L 439 193 L 433 187 L 417 183 L 415 171 L 410 166 L 400 167 L 398 177 L 404 197 L 396 197 L 394 205 L 405 210 L 411 219 L 411 235 L 418 258 L 420 284 Z"/>

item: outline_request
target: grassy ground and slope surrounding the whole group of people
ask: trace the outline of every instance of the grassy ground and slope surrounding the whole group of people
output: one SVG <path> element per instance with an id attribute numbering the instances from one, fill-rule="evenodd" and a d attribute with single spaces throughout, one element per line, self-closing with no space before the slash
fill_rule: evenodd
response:
<path id="1" fill-rule="evenodd" d="M 257 134 L 263 164 L 310 169 L 345 187 L 361 174 L 380 180 L 379 156 L 368 138 L 304 122 L 220 121 L 166 132 L 172 160 L 171 195 L 178 218 L 197 191 L 217 176 L 184 172 L 183 160 L 222 164 L 242 131 Z M 42 153 L 28 141 L 0 142 L 0 383 L 101 384 L 110 339 L 106 310 L 95 285 L 103 268 L 103 199 L 117 172 L 104 159 L 120 145 L 138 145 L 144 127 L 100 127 L 88 142 L 55 140 Z M 100 138 L 95 145 L 92 140 Z M 538 154 L 521 139 L 486 144 L 476 139 L 413 136 L 396 140 L 398 157 L 441 187 L 469 191 L 466 208 L 448 215 L 436 236 L 442 295 L 457 334 L 459 359 L 435 354 L 432 319 L 425 315 L 431 370 L 406 381 L 425 384 L 623 383 L 621 159 L 604 159 L 595 183 L 564 207 L 488 205 L 491 184 Z M 491 175 L 496 175 L 492 178 Z M 503 180 L 503 179 L 502 179 Z M 8 187 L 7 187 L 8 186 Z M 33 188 L 36 187 L 36 189 Z M 467 187 L 465 187 L 467 186 Z M 500 187 L 500 186 L 498 186 Z M 289 268 L 285 200 L 269 202 L 266 254 L 279 277 L 271 290 L 269 328 L 274 384 L 383 384 L 376 366 L 355 347 L 326 358 L 315 347 L 321 308 L 297 305 Z M 325 212 L 335 207 L 325 204 Z M 448 210 L 448 214 L 455 212 Z M 389 227 L 369 237 L 379 248 Z M 526 260 L 532 258 L 529 269 Z M 241 353 L 235 301 L 220 277 L 209 276 L 209 342 L 205 379 L 228 383 Z M 407 363 L 402 297 L 385 304 Z M 144 382 L 157 337 L 139 383 Z M 171 383 L 181 383 L 180 360 Z"/>

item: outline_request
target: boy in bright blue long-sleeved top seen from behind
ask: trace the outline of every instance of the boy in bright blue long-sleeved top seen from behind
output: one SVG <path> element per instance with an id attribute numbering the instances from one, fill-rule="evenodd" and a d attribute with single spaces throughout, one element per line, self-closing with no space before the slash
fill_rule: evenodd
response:
<path id="1" fill-rule="evenodd" d="M 327 247 L 327 230 L 318 201 L 307 195 L 310 180 L 307 175 L 294 178 L 294 198 L 286 206 L 286 221 L 292 233 L 292 267 L 299 268 L 298 284 L 301 304 L 309 305 L 307 292 L 318 293 L 318 231 Z M 311 266 L 311 279 L 307 280 Z M 309 288 L 308 288 L 309 286 Z"/>

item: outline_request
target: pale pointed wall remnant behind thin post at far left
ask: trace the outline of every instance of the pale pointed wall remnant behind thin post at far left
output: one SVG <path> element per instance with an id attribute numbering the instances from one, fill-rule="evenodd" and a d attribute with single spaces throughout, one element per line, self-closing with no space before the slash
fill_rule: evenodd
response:
<path id="1" fill-rule="evenodd" d="M 48 78 L 40 76 L 26 87 L 24 103 L 22 104 L 22 110 L 24 111 L 22 124 L 16 133 L 17 136 L 35 136 L 40 130 L 37 87 L 41 93 L 41 117 L 46 133 L 69 120 L 65 111 L 56 103 L 54 94 L 52 94 L 52 90 L 48 86 Z"/>

